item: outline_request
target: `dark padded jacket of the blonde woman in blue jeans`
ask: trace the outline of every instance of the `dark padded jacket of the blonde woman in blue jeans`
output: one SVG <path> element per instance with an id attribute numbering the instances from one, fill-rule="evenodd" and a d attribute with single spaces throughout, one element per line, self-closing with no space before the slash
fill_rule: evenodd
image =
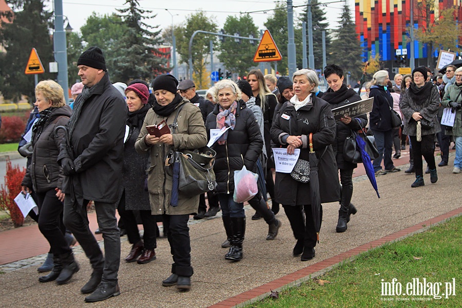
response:
<path id="1" fill-rule="evenodd" d="M 369 98 L 374 98 L 369 127 L 378 131 L 392 130 L 390 107 L 393 108 L 393 98 L 390 91 L 385 90 L 383 86 L 375 85 L 371 87 Z"/>

